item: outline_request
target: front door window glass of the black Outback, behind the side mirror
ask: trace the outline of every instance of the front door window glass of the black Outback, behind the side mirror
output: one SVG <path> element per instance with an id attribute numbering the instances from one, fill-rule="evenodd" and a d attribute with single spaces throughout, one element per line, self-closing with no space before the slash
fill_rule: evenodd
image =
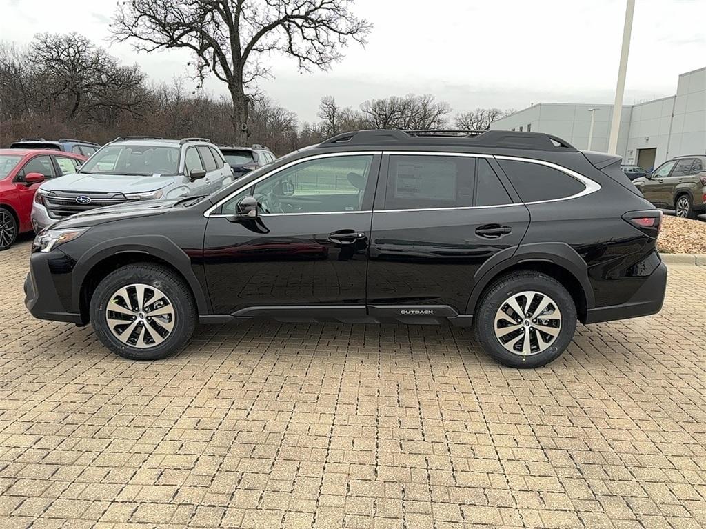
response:
<path id="1" fill-rule="evenodd" d="M 239 201 L 250 195 L 262 213 L 360 211 L 372 162 L 372 155 L 353 155 L 298 163 L 241 191 L 224 204 L 223 213 L 237 213 Z"/>

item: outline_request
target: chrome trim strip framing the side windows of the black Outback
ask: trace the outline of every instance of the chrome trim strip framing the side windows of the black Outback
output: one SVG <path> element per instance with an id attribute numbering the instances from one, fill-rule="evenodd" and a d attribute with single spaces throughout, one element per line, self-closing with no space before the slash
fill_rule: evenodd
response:
<path id="1" fill-rule="evenodd" d="M 601 184 L 598 182 L 595 182 L 594 180 L 585 177 L 584 175 L 575 172 L 573 170 L 568 169 L 568 167 L 564 167 L 563 165 L 558 165 L 554 162 L 546 162 L 545 160 L 536 160 L 534 158 L 525 158 L 525 157 L 520 157 L 520 156 L 505 156 L 505 155 L 489 155 L 489 154 L 479 154 L 479 153 L 443 153 L 439 151 L 426 151 L 426 150 L 361 150 L 361 151 L 352 151 L 349 153 L 324 153 L 324 154 L 318 154 L 318 155 L 313 155 L 313 156 L 308 156 L 305 158 L 299 158 L 298 160 L 292 160 L 292 162 L 289 162 L 285 165 L 282 165 L 282 167 L 277 167 L 276 170 L 270 171 L 268 173 L 263 174 L 261 177 L 253 180 L 253 182 L 250 182 L 249 184 L 246 184 L 244 186 L 239 187 L 235 191 L 233 191 L 231 194 L 226 196 L 225 198 L 222 198 L 220 201 L 215 203 L 213 206 L 208 208 L 203 212 L 204 217 L 232 217 L 232 215 L 210 215 L 210 213 L 213 210 L 216 210 L 220 206 L 222 206 L 224 203 L 229 201 L 231 198 L 233 198 L 235 195 L 239 194 L 241 191 L 244 191 L 245 189 L 248 189 L 251 186 L 254 186 L 258 184 L 259 182 L 262 182 L 264 179 L 273 176 L 274 174 L 277 174 L 278 172 L 287 169 L 288 167 L 292 167 L 293 165 L 297 165 L 299 163 L 303 162 L 309 162 L 310 160 L 318 160 L 319 158 L 329 158 L 329 157 L 339 157 L 339 156 L 356 156 L 356 155 L 412 155 L 412 156 L 460 156 L 460 157 L 472 157 L 472 158 L 494 158 L 496 160 L 511 160 L 513 162 L 528 162 L 528 163 L 535 163 L 538 165 L 544 165 L 546 167 L 551 167 L 552 169 L 556 169 L 558 171 L 563 172 L 564 174 L 567 174 L 569 177 L 572 177 L 574 179 L 577 179 L 579 182 L 581 182 L 584 186 L 585 189 L 583 191 L 580 191 L 580 193 L 577 193 L 575 195 L 570 195 L 570 196 L 564 196 L 562 198 L 549 198 L 548 200 L 542 200 L 542 201 L 532 201 L 532 202 L 512 202 L 508 204 L 497 204 L 493 206 L 457 206 L 457 207 L 450 207 L 450 208 L 409 208 L 409 209 L 388 209 L 388 210 L 364 210 L 364 211 L 318 211 L 315 213 L 261 213 L 262 216 L 281 216 L 281 215 L 342 215 L 345 213 L 400 213 L 400 212 L 405 212 L 405 211 L 448 211 L 448 210 L 473 210 L 473 209 L 486 209 L 486 208 L 507 208 L 509 206 L 530 206 L 534 204 L 544 204 L 544 203 L 551 203 L 551 202 L 559 202 L 559 201 L 565 201 L 565 200 L 572 200 L 573 198 L 580 198 L 581 196 L 586 196 L 590 195 L 592 193 L 595 193 L 596 191 L 599 191 L 601 189 Z"/>

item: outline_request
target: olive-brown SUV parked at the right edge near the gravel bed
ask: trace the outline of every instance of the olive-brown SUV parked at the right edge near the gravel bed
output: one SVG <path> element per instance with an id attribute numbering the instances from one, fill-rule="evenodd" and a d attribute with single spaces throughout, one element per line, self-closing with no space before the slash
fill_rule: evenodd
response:
<path id="1" fill-rule="evenodd" d="M 678 217 L 706 213 L 706 156 L 680 156 L 667 160 L 633 184 L 658 208 L 674 210 Z"/>

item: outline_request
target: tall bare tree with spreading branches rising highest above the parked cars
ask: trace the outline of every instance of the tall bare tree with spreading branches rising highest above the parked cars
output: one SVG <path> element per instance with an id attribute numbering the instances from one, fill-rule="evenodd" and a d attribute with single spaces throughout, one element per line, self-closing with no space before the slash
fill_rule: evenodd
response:
<path id="1" fill-rule="evenodd" d="M 196 75 L 226 83 L 236 143 L 247 139 L 249 93 L 268 69 L 262 54 L 297 59 L 300 71 L 328 69 L 349 40 L 364 44 L 371 24 L 351 11 L 354 0 L 131 0 L 113 20 L 116 40 L 136 49 L 186 48 Z"/>

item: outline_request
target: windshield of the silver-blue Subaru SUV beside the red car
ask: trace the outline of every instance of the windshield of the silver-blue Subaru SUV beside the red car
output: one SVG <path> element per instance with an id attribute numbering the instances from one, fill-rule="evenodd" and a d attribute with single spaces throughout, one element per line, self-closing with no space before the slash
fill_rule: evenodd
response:
<path id="1" fill-rule="evenodd" d="M 174 176 L 179 171 L 179 148 L 155 145 L 108 145 L 90 157 L 80 172 L 148 177 Z"/>

